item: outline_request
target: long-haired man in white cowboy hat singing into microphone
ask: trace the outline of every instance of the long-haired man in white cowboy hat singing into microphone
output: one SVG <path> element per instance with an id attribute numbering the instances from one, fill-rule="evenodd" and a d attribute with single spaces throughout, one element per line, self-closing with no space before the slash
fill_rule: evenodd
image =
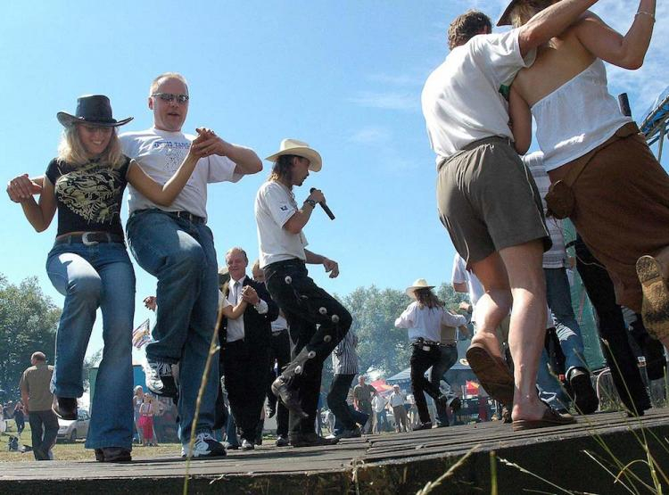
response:
<path id="1" fill-rule="evenodd" d="M 314 429 L 323 361 L 349 331 L 352 319 L 306 268 L 306 263 L 323 265 L 330 278 L 339 275 L 335 261 L 305 249 L 302 229 L 325 196 L 312 189 L 298 207 L 293 194 L 293 186 L 301 186 L 310 171 L 318 172 L 322 160 L 309 144 L 295 139 L 284 139 L 279 152 L 267 160 L 274 161 L 272 173 L 255 198 L 260 268 L 293 341 L 293 360 L 272 384 L 272 392 L 290 410 L 288 438 L 293 446 L 329 445 L 338 439 L 321 438 Z"/>

